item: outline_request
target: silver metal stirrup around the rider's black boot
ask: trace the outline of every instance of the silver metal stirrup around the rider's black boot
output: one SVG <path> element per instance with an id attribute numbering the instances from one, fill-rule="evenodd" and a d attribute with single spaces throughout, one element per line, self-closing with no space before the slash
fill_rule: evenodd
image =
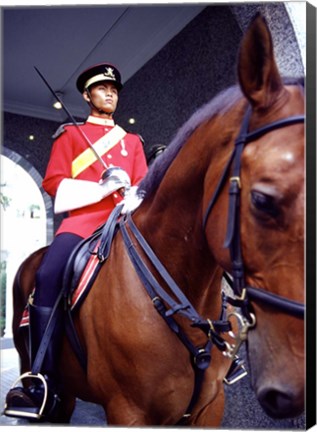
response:
<path id="1" fill-rule="evenodd" d="M 46 380 L 42 374 L 40 374 L 40 373 L 33 374 L 32 372 L 26 372 L 26 373 L 22 374 L 13 383 L 9 392 L 16 387 L 16 385 L 19 381 L 22 381 L 25 378 L 38 379 L 43 384 L 44 396 L 43 396 L 43 401 L 42 401 L 41 406 L 40 407 L 36 407 L 36 406 L 34 406 L 34 407 L 18 407 L 18 406 L 14 407 L 13 406 L 11 408 L 11 407 L 7 406 L 7 403 L 5 403 L 3 414 L 8 416 L 8 417 L 19 417 L 19 418 L 26 418 L 26 419 L 32 419 L 33 418 L 36 420 L 41 420 L 43 417 L 44 408 L 45 408 L 47 398 L 48 398 L 48 385 L 47 385 L 47 382 L 46 382 Z"/>

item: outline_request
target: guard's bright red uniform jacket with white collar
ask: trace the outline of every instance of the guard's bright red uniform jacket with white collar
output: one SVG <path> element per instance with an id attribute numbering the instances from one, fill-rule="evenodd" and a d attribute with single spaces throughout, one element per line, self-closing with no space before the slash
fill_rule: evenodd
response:
<path id="1" fill-rule="evenodd" d="M 112 121 L 89 116 L 86 123 L 80 128 L 93 144 L 114 126 Z M 47 166 L 43 188 L 55 196 L 60 182 L 64 178 L 72 178 L 72 162 L 88 147 L 80 132 L 73 125 L 65 125 L 64 132 L 55 140 Z M 122 150 L 125 148 L 128 153 Z M 122 154 L 123 153 L 123 154 Z M 137 185 L 147 172 L 147 164 L 141 140 L 137 135 L 128 133 L 112 149 L 102 156 L 107 166 L 118 166 L 124 169 L 131 179 L 132 185 Z M 77 175 L 77 179 L 98 182 L 104 168 L 100 161 L 96 160 L 88 168 Z M 105 223 L 111 211 L 122 198 L 114 193 L 102 201 L 75 209 L 69 212 L 57 233 L 73 233 L 82 237 L 88 237 L 100 225 Z"/>

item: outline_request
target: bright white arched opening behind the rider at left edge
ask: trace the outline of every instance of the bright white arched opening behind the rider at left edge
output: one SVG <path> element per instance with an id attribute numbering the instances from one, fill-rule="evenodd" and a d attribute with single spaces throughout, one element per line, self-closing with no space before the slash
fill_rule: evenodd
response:
<path id="1" fill-rule="evenodd" d="M 2 153 L 0 332 L 11 337 L 13 279 L 28 255 L 51 242 L 53 211 L 37 170 L 13 151 Z"/>

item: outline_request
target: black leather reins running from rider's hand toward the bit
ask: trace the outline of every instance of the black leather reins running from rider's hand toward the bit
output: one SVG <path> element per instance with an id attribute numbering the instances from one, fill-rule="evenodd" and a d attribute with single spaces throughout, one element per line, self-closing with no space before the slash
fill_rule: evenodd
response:
<path id="1" fill-rule="evenodd" d="M 220 336 L 221 332 L 229 332 L 231 330 L 231 324 L 225 320 L 225 307 L 221 313 L 221 317 L 218 321 L 211 321 L 209 319 L 203 319 L 197 311 L 194 309 L 192 304 L 189 302 L 187 297 L 175 283 L 173 278 L 170 276 L 166 268 L 159 261 L 155 253 L 153 252 L 150 245 L 147 243 L 145 238 L 142 236 L 136 225 L 134 224 L 131 214 L 127 213 L 119 221 L 120 230 L 122 233 L 123 241 L 128 251 L 129 257 L 135 267 L 135 270 L 142 281 L 146 291 L 148 292 L 153 305 L 159 312 L 159 314 L 166 321 L 170 329 L 178 336 L 181 342 L 186 346 L 192 355 L 192 365 L 195 371 L 195 382 L 194 390 L 189 406 L 179 424 L 190 416 L 190 413 L 199 397 L 200 389 L 204 379 L 205 370 L 208 368 L 211 362 L 211 349 L 213 344 L 217 348 L 225 352 L 228 350 L 228 344 Z M 174 298 L 172 298 L 166 290 L 157 281 L 151 270 L 148 268 L 142 257 L 140 256 L 131 236 L 129 235 L 128 229 L 133 234 L 134 239 L 137 241 L 138 246 L 142 249 L 147 259 L 151 262 L 154 268 L 158 271 L 164 282 L 172 291 Z M 168 305 L 169 309 L 167 309 Z M 208 337 L 207 343 L 204 346 L 195 346 L 190 339 L 187 337 L 182 328 L 178 325 L 174 319 L 175 315 L 181 315 L 191 321 L 191 326 L 199 328 Z M 239 366 L 238 361 L 234 361 L 233 369 Z"/>

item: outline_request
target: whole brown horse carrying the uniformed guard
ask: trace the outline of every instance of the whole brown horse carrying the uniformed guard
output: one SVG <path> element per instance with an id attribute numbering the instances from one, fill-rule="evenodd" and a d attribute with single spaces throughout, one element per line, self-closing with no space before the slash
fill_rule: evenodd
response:
<path id="1" fill-rule="evenodd" d="M 243 37 L 238 75 L 240 85 L 197 111 L 152 165 L 140 185 L 144 200 L 132 215 L 139 231 L 128 219 L 121 221 L 110 256 L 74 316 L 87 353 L 86 372 L 64 340 L 61 421 L 70 419 L 78 397 L 102 405 L 110 425 L 175 425 L 184 414 L 190 414 L 186 424 L 192 426 L 221 422 L 223 380 L 233 347 L 214 344 L 187 413 L 195 370 L 188 349 L 155 310 L 136 271 L 132 249 L 173 297 L 160 267 L 154 268 L 137 241 L 138 233 L 210 324 L 209 331 L 201 331 L 187 323 L 186 310 L 192 309 L 179 308 L 183 315 L 175 321 L 195 346 L 205 346 L 208 336 L 217 334 L 213 323 L 221 316 L 223 271 L 233 276 L 236 296 L 229 303 L 243 314 L 232 315 L 231 321 L 234 325 L 238 317 L 243 330 L 250 327 L 247 348 L 258 400 L 274 417 L 304 410 L 304 92 L 301 84 L 282 81 L 261 16 Z M 14 287 L 22 371 L 30 366 L 19 322 L 42 253 L 22 265 Z M 171 309 L 167 315 L 176 317 L 177 307 Z M 232 342 L 226 332 L 219 338 Z"/>

